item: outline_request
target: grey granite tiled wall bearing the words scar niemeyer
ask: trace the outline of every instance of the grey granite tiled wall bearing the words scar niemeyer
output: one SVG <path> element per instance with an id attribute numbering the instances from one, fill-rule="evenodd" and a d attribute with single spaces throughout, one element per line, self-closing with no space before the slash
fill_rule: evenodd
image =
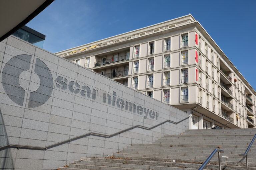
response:
<path id="1" fill-rule="evenodd" d="M 113 134 L 189 117 L 16 37 L 0 42 L 0 146 L 45 147 L 89 132 Z M 90 135 L 46 150 L 0 149 L 1 169 L 57 169 L 80 157 L 103 157 L 188 129 L 188 119 L 112 137 Z"/>

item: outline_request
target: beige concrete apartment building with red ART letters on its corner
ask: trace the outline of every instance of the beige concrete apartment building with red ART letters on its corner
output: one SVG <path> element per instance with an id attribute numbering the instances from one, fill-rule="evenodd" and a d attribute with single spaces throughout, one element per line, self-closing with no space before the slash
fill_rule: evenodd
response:
<path id="1" fill-rule="evenodd" d="M 255 128 L 256 92 L 190 14 L 56 54 L 189 113 L 190 129 Z"/>

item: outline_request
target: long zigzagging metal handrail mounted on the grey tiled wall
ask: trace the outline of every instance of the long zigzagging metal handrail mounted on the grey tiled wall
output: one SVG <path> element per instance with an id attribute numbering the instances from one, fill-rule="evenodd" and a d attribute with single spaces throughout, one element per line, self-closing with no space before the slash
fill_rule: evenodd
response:
<path id="1" fill-rule="evenodd" d="M 190 117 L 190 116 L 189 116 Z M 53 148 L 55 146 L 59 146 L 61 144 L 64 144 L 66 142 L 70 142 L 70 141 L 74 141 L 74 140 L 77 140 L 77 139 L 80 139 L 81 137 L 86 137 L 86 136 L 90 136 L 90 135 L 94 135 L 94 136 L 100 136 L 100 137 L 106 137 L 106 138 L 110 138 L 110 137 L 113 137 L 115 135 L 118 135 L 118 134 L 121 134 L 121 133 L 124 133 L 128 130 L 131 130 L 131 129 L 134 129 L 134 128 L 142 128 L 142 129 L 146 129 L 146 130 L 151 130 L 153 128 L 156 128 L 162 124 L 165 124 L 166 122 L 170 122 L 172 124 L 179 124 L 185 120 L 187 120 L 189 117 L 179 121 L 179 122 L 173 122 L 171 120 L 166 120 L 160 124 L 157 124 L 155 126 L 152 126 L 151 128 L 148 128 L 148 127 L 145 127 L 145 126 L 141 126 L 141 125 L 136 125 L 136 126 L 133 126 L 133 127 L 130 127 L 130 128 L 127 128 L 127 129 L 124 129 L 124 130 L 121 130 L 119 132 L 116 132 L 116 133 L 113 133 L 113 134 L 110 134 L 110 135 L 107 135 L 107 134 L 103 134 L 103 133 L 94 133 L 94 132 L 90 132 L 90 133 L 85 133 L 85 134 L 82 134 L 80 136 L 76 136 L 76 137 L 73 137 L 73 138 L 70 138 L 70 139 L 67 139 L 67 140 L 63 140 L 61 142 L 58 142 L 58 143 L 54 143 L 52 145 L 48 145 L 48 146 L 45 146 L 45 147 L 40 147 L 40 146 L 28 146 L 28 145 L 20 145 L 20 144 L 8 144 L 8 145 L 5 145 L 5 146 L 1 146 L 0 147 L 0 150 L 2 149 L 5 149 L 5 148 L 8 148 L 8 147 L 16 147 L 16 148 L 23 148 L 23 149 L 37 149 L 37 150 L 46 150 L 46 149 L 49 149 L 49 148 Z"/>

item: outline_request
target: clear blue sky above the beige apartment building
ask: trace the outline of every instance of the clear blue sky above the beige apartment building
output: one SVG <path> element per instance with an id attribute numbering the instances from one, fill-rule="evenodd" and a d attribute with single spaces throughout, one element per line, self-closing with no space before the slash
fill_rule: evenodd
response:
<path id="1" fill-rule="evenodd" d="M 256 0 L 55 0 L 27 26 L 58 52 L 191 13 L 256 89 Z"/>

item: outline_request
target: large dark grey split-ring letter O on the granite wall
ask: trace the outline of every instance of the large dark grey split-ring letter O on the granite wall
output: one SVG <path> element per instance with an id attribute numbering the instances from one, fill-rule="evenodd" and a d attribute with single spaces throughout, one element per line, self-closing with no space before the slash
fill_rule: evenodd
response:
<path id="1" fill-rule="evenodd" d="M 17 55 L 11 58 L 4 66 L 2 72 L 2 84 L 8 97 L 19 106 L 23 106 L 26 99 L 25 93 L 28 89 L 23 89 L 19 82 L 20 74 L 23 71 L 30 70 L 32 56 Z M 40 85 L 37 90 L 30 92 L 29 108 L 35 108 L 44 104 L 51 96 L 53 90 L 52 74 L 46 64 L 36 58 L 34 71 L 40 79 Z M 31 81 L 31 80 L 30 80 Z M 29 82 L 30 83 L 30 82 Z"/>

